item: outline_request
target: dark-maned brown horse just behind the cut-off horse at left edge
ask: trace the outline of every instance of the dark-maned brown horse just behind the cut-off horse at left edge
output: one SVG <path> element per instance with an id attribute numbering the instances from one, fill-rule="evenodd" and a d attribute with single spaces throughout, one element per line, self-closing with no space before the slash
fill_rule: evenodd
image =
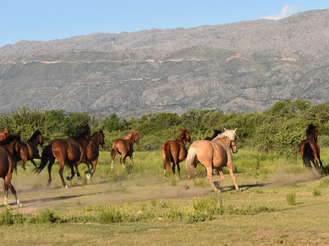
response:
<path id="1" fill-rule="evenodd" d="M 41 148 L 43 148 L 43 136 L 41 135 L 40 131 L 35 131 L 29 140 L 22 142 L 20 152 L 22 160 L 20 161 L 20 165 L 24 170 L 26 170 L 25 163 L 28 160 L 31 161 L 35 167 L 37 167 L 37 164 L 33 159 L 41 159 L 39 155 L 38 144 L 41 146 Z M 16 166 L 15 171 L 17 173 Z"/>

